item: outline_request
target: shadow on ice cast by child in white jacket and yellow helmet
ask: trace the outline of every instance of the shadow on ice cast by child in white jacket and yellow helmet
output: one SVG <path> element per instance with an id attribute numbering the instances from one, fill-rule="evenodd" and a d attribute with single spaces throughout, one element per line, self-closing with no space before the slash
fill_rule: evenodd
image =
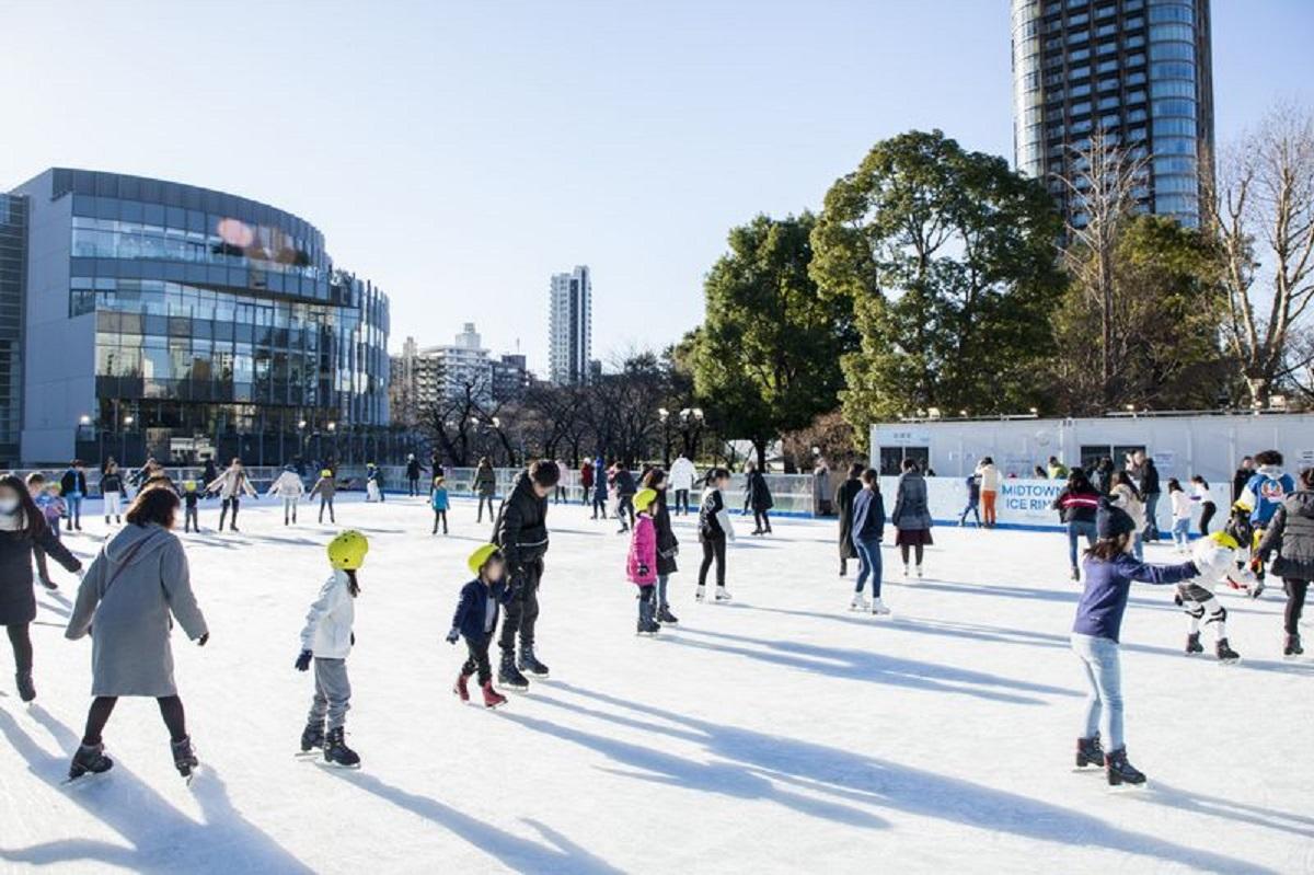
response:
<path id="1" fill-rule="evenodd" d="M 438 824 L 490 857 L 497 858 L 503 866 L 519 872 L 612 875 L 622 871 L 599 857 L 590 854 L 586 849 L 572 842 L 555 829 L 535 820 L 526 820 L 524 822 L 533 826 L 549 842 L 548 845 L 540 845 L 527 838 L 512 836 L 491 824 L 464 815 L 451 805 L 444 805 L 436 799 L 418 796 L 361 771 L 330 770 L 328 774 L 365 792 L 373 794 L 398 808 L 405 808 L 413 815 Z"/>

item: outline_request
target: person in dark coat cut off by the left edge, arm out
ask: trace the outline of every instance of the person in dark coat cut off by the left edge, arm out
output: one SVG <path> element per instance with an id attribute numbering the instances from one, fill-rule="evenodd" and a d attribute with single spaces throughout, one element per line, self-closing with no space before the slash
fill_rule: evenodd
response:
<path id="1" fill-rule="evenodd" d="M 9 633 L 14 681 L 18 698 L 24 702 L 37 698 L 32 682 L 29 627 L 37 619 L 37 596 L 32 591 L 32 553 L 38 545 L 70 572 L 81 570 L 78 557 L 50 531 L 46 518 L 28 494 L 28 486 L 13 474 L 0 477 L 0 625 Z"/>

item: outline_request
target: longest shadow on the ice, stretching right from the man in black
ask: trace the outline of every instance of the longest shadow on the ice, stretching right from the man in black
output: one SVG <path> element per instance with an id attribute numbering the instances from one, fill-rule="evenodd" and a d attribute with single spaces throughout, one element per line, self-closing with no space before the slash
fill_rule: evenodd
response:
<path id="1" fill-rule="evenodd" d="M 738 763 L 740 767 L 749 769 L 773 782 L 807 787 L 813 794 L 829 795 L 849 803 L 878 809 L 895 809 L 920 817 L 946 820 L 987 832 L 1012 833 L 1059 845 L 1095 845 L 1120 854 L 1137 854 L 1209 871 L 1273 872 L 1273 870 L 1248 861 L 1113 826 L 1097 817 L 1081 813 L 1077 808 L 1053 805 L 970 780 L 838 748 L 716 724 L 654 706 L 585 690 L 570 683 L 557 682 L 553 683 L 553 688 L 611 708 L 646 715 L 656 719 L 656 721 L 639 721 L 648 732 L 682 741 L 692 740 L 703 745 L 708 754 L 729 763 Z M 551 702 L 568 711 L 604 721 L 631 725 L 629 719 L 618 719 L 612 711 L 598 711 L 553 699 L 536 698 L 535 700 Z M 673 727 L 668 724 L 673 724 Z M 602 737 L 594 736 L 594 738 Z M 610 755 L 618 750 L 610 738 L 602 738 L 602 742 L 597 748 L 600 753 Z M 675 775 L 668 775 L 666 779 L 670 783 L 678 783 Z M 1227 817 L 1226 807 L 1213 813 Z"/>

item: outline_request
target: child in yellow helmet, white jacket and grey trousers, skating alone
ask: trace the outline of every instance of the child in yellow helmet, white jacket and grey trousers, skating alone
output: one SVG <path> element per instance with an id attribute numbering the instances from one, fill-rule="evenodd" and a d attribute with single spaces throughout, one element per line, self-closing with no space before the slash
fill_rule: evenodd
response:
<path id="1" fill-rule="evenodd" d="M 356 621 L 356 596 L 360 581 L 356 574 L 365 562 L 369 541 L 356 531 L 346 531 L 328 541 L 328 565 L 332 574 L 319 590 L 319 598 L 306 614 L 301 629 L 301 654 L 297 671 L 315 666 L 315 695 L 310 703 L 306 728 L 301 732 L 301 753 L 323 749 L 325 762 L 359 766 L 360 757 L 347 746 L 347 709 L 351 708 L 351 681 L 347 678 L 347 656 L 356 644 L 352 625 Z M 325 732 L 325 717 L 328 720 Z"/>

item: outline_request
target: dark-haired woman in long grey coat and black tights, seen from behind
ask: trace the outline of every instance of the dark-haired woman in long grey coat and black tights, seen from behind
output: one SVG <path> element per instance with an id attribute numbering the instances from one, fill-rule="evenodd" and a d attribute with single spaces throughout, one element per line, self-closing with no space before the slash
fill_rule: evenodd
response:
<path id="1" fill-rule="evenodd" d="M 210 632 L 192 593 L 187 552 L 172 532 L 177 493 L 143 489 L 127 508 L 127 526 L 92 561 L 78 587 L 64 636 L 91 635 L 93 696 L 70 778 L 108 770 L 101 733 L 120 696 L 156 700 L 170 733 L 173 766 L 184 778 L 197 766 L 183 700 L 173 682 L 173 621 L 205 646 Z M 171 619 L 172 616 L 172 619 Z"/>

